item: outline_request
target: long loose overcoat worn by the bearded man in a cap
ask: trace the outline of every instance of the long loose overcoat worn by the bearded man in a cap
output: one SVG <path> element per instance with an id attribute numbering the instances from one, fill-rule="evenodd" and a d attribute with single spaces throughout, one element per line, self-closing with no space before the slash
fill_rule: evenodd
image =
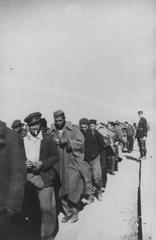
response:
<path id="1" fill-rule="evenodd" d="M 50 136 L 56 142 L 60 139 L 54 124 L 51 126 Z M 85 189 L 80 170 L 84 161 L 84 137 L 78 127 L 66 122 L 61 138 L 66 139 L 69 144 L 64 148 L 58 145 L 60 161 L 56 170 L 61 179 L 59 197 L 67 196 L 71 202 L 77 203 Z"/>

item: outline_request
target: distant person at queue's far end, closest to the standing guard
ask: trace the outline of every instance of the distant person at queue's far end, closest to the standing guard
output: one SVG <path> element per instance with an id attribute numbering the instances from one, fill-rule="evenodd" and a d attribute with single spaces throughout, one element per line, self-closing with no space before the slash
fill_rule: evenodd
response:
<path id="1" fill-rule="evenodd" d="M 128 122 L 125 122 L 125 126 L 126 126 L 126 136 L 127 136 L 127 150 L 129 153 L 131 153 L 133 151 L 135 129 L 133 125 L 131 125 Z"/>

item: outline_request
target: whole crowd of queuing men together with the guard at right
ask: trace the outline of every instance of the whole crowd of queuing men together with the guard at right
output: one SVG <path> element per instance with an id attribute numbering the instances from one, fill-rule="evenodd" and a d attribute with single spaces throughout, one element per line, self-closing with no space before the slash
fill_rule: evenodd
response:
<path id="1" fill-rule="evenodd" d="M 139 159 L 146 158 L 148 124 L 138 115 L 137 125 L 87 118 L 74 125 L 62 110 L 50 128 L 40 112 L 15 120 L 12 129 L 0 121 L 0 239 L 17 239 L 8 235 L 14 221 L 23 234 L 37 229 L 38 239 L 52 240 L 60 212 L 62 222 L 74 223 L 85 205 L 101 201 L 107 174 L 116 174 L 135 138 Z"/>

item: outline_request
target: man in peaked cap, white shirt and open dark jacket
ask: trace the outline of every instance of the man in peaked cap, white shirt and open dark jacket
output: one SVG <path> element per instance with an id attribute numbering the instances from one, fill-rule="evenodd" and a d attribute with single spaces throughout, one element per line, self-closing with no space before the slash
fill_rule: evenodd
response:
<path id="1" fill-rule="evenodd" d="M 58 162 L 56 143 L 41 132 L 41 113 L 29 114 L 24 120 L 29 133 L 24 137 L 27 181 L 35 186 L 41 210 L 41 239 L 52 240 L 58 228 L 54 184 Z"/>

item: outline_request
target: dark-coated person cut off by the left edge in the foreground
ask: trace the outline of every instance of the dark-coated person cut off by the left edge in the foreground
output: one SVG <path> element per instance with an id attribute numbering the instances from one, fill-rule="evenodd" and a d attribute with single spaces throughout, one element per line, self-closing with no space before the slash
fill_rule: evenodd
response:
<path id="1" fill-rule="evenodd" d="M 11 216 L 21 211 L 25 181 L 25 157 L 18 135 L 0 121 L 0 239 L 12 239 L 6 235 Z"/>

